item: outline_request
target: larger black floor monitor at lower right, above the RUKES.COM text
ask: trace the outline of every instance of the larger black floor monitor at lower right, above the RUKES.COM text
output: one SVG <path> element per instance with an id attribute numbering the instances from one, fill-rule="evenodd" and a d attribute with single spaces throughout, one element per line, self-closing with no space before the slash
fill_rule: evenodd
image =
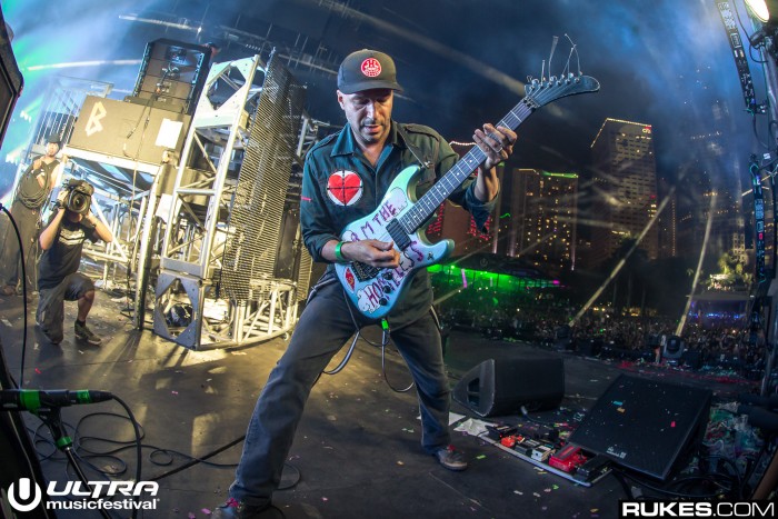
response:
<path id="1" fill-rule="evenodd" d="M 711 392 L 620 375 L 569 441 L 666 480 L 705 435 Z"/>

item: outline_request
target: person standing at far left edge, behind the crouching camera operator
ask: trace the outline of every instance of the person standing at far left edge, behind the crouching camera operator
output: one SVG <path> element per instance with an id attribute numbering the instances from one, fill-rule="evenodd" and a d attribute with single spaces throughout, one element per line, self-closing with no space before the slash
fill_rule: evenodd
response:
<path id="1" fill-rule="evenodd" d="M 50 134 L 46 142 L 46 154 L 38 157 L 24 170 L 19 179 L 19 186 L 11 204 L 11 216 L 19 228 L 24 250 L 27 287 L 30 291 L 34 285 L 33 272 L 37 259 L 34 243 L 40 229 L 40 212 L 61 174 L 61 168 L 58 167 L 68 162 L 68 157 L 64 154 L 61 161 L 56 158 L 61 143 L 59 134 Z M 7 226 L 6 239 L 4 241 L 0 239 L 0 243 L 2 243 L 2 248 L 0 248 L 0 286 L 2 286 L 0 293 L 13 296 L 17 293 L 17 285 L 21 278 L 21 254 L 17 236 L 10 222 Z"/>

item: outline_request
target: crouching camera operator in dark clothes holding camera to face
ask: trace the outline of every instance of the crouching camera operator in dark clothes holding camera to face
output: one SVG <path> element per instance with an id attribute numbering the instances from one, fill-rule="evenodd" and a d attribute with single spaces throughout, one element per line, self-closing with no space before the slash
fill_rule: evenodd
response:
<path id="1" fill-rule="evenodd" d="M 94 283 L 78 272 L 83 240 L 113 240 L 111 231 L 89 212 L 93 192 L 94 188 L 87 181 L 70 180 L 57 197 L 57 211 L 40 234 L 43 254 L 38 263 L 40 300 L 36 322 L 54 345 L 63 338 L 64 300 L 78 301 L 76 337 L 90 345 L 101 342 L 87 327 L 87 316 L 94 302 Z"/>

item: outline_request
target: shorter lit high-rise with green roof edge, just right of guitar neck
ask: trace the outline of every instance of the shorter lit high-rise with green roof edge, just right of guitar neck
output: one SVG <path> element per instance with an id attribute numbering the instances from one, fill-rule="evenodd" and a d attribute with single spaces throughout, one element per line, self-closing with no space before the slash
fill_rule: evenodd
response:
<path id="1" fill-rule="evenodd" d="M 553 276 L 575 268 L 578 174 L 513 169 L 501 179 L 493 252 Z"/>

